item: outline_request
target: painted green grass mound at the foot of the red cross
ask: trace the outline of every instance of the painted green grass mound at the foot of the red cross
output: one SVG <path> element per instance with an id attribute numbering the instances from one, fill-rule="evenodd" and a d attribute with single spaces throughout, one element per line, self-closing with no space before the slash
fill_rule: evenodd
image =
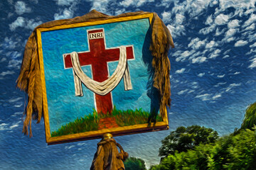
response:
<path id="1" fill-rule="evenodd" d="M 85 115 L 83 118 L 77 118 L 75 121 L 63 125 L 58 130 L 51 132 L 51 137 L 98 130 L 101 118 L 115 118 L 117 125 L 120 127 L 163 121 L 157 113 L 149 113 L 143 111 L 142 108 L 139 110 L 136 109 L 135 111 L 131 109 L 121 111 L 117 110 L 114 106 L 112 113 L 107 114 L 97 113 L 97 111 L 93 109 L 93 113 L 90 113 L 90 115 Z"/>

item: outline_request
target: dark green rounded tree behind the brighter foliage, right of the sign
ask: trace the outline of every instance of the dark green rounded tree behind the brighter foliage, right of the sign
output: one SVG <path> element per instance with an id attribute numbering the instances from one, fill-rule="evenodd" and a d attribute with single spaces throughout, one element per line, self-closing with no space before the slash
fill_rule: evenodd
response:
<path id="1" fill-rule="evenodd" d="M 218 132 L 211 128 L 192 125 L 187 128 L 181 126 L 161 141 L 160 157 L 167 157 L 175 152 L 186 152 L 200 144 L 214 143 L 218 139 Z"/>

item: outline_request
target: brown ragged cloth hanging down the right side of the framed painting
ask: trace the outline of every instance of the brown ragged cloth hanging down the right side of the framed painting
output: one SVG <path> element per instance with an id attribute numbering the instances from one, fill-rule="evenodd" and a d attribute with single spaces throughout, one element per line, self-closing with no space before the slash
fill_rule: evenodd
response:
<path id="1" fill-rule="evenodd" d="M 161 96 L 160 113 L 164 113 L 166 106 L 171 105 L 171 85 L 169 81 L 171 64 L 168 58 L 168 52 L 170 47 L 174 47 L 174 42 L 168 28 L 166 28 L 156 13 L 154 13 L 151 28 L 152 35 L 149 50 L 151 50 L 151 54 L 153 55 L 152 67 L 155 70 L 154 87 L 159 90 Z M 164 118 L 164 114 L 162 116 Z"/>

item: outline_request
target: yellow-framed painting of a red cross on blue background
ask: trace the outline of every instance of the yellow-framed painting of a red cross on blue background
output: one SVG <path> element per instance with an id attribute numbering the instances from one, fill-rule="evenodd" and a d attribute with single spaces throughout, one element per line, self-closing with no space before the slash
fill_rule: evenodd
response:
<path id="1" fill-rule="evenodd" d="M 169 128 L 153 87 L 152 17 L 36 30 L 48 144 Z"/>

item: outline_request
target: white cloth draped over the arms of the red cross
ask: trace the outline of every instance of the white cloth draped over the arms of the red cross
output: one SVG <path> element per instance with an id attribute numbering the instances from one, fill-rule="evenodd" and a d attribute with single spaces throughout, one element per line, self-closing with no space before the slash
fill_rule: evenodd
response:
<path id="1" fill-rule="evenodd" d="M 78 58 L 78 52 L 72 52 L 70 54 L 75 81 L 75 96 L 83 96 L 82 83 L 95 94 L 104 96 L 110 93 L 110 91 L 112 91 L 117 84 L 119 84 L 122 78 L 124 78 L 124 90 L 128 91 L 132 89 L 132 81 L 127 64 L 126 47 L 120 46 L 119 49 L 120 55 L 117 69 L 107 80 L 102 82 L 90 79 L 90 77 L 87 77 L 87 75 L 82 71 Z"/>

